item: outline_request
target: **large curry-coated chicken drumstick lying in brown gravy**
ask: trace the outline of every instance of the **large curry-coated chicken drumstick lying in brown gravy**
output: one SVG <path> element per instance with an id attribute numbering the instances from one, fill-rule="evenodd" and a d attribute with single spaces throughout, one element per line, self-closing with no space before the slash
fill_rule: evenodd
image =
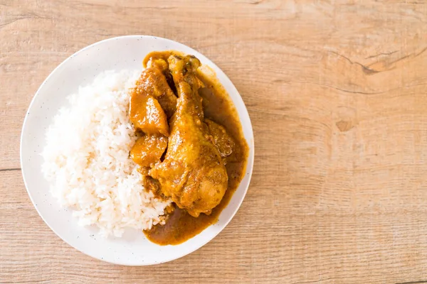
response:
<path id="1" fill-rule="evenodd" d="M 194 56 L 171 55 L 169 68 L 178 92 L 176 112 L 162 163 L 149 171 L 159 180 L 159 190 L 191 216 L 210 214 L 227 190 L 228 176 L 214 138 L 204 124 Z"/>

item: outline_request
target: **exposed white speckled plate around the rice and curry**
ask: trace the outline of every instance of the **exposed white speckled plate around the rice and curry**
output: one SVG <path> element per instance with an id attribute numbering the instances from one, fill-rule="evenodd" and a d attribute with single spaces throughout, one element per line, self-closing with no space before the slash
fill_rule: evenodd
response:
<path id="1" fill-rule="evenodd" d="M 148 241 L 141 231 L 128 230 L 122 238 L 97 236 L 94 227 L 80 227 L 68 209 L 61 209 L 48 191 L 48 182 L 41 173 L 41 153 L 46 128 L 58 109 L 66 104 L 65 97 L 90 83 L 104 70 L 142 69 L 142 60 L 154 50 L 179 50 L 196 55 L 212 67 L 218 80 L 233 100 L 250 148 L 246 174 L 219 221 L 201 234 L 177 246 L 159 246 Z M 129 35 L 102 40 L 78 51 L 62 62 L 41 84 L 28 108 L 21 133 L 21 167 L 23 180 L 38 214 L 61 239 L 75 249 L 110 263 L 146 266 L 172 261 L 204 246 L 230 222 L 248 190 L 253 169 L 253 131 L 248 111 L 240 94 L 228 77 L 208 58 L 181 43 L 147 35 Z"/>

